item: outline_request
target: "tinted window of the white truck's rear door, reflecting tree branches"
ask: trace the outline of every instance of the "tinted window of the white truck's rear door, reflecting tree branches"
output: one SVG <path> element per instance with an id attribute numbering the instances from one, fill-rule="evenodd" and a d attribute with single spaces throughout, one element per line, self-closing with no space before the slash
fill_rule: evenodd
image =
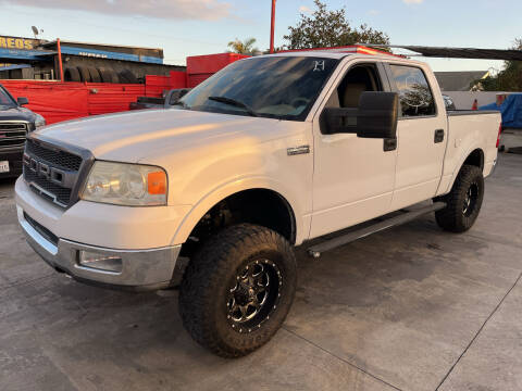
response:
<path id="1" fill-rule="evenodd" d="M 435 100 L 424 73 L 417 67 L 390 65 L 403 117 L 435 115 Z"/>

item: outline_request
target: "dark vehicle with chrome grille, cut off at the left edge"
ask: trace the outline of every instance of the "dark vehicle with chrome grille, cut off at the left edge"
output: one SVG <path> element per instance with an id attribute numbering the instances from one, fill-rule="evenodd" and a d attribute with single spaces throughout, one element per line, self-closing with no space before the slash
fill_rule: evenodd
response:
<path id="1" fill-rule="evenodd" d="M 22 154 L 29 131 L 46 125 L 39 114 L 24 108 L 26 98 L 15 100 L 0 85 L 0 178 L 22 174 Z"/>

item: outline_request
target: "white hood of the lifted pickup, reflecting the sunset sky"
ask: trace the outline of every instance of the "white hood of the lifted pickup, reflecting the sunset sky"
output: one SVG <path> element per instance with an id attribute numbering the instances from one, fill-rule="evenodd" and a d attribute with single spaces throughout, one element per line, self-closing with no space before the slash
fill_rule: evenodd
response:
<path id="1" fill-rule="evenodd" d="M 35 134 L 91 151 L 97 159 L 136 163 L 148 156 L 234 137 L 256 123 L 273 122 L 187 110 L 144 110 L 48 126 Z"/>

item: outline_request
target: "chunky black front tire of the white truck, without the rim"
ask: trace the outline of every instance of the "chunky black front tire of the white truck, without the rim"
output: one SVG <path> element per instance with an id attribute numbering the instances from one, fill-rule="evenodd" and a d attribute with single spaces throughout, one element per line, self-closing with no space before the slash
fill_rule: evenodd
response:
<path id="1" fill-rule="evenodd" d="M 239 329 L 231 324 L 226 298 L 244 267 L 258 260 L 272 263 L 281 272 L 281 295 L 260 325 Z M 239 357 L 266 343 L 279 329 L 296 285 L 290 243 L 271 229 L 240 224 L 214 235 L 190 260 L 181 285 L 179 313 L 187 331 L 203 348 L 222 357 Z"/>

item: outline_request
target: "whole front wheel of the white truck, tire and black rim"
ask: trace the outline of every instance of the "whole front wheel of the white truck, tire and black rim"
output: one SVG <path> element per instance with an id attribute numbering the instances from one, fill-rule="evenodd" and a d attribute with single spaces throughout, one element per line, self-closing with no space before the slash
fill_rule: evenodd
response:
<path id="1" fill-rule="evenodd" d="M 279 329 L 296 283 L 296 260 L 285 238 L 260 226 L 232 226 L 190 260 L 179 291 L 183 324 L 214 354 L 246 355 Z"/>

